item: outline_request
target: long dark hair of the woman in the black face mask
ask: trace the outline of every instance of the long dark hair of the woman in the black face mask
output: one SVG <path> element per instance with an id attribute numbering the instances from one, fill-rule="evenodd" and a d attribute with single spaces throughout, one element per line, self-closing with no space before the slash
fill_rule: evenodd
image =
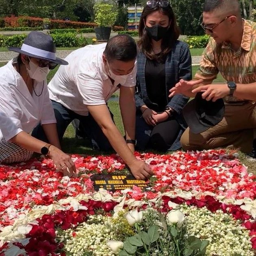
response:
<path id="1" fill-rule="evenodd" d="M 162 39 L 162 45 L 161 45 L 162 52 L 160 56 L 159 55 L 156 56 L 156 54 L 154 54 L 154 51 L 152 49 L 152 44 L 151 44 L 151 38 L 149 37 L 145 29 L 145 22 L 146 22 L 147 16 L 150 15 L 151 13 L 154 13 L 155 11 L 160 11 L 163 15 L 168 16 L 169 21 L 171 22 L 171 25 L 166 33 L 166 36 Z M 145 54 L 145 56 L 148 59 L 160 60 L 163 58 L 163 56 L 165 56 L 171 51 L 176 40 L 180 36 L 180 29 L 176 23 L 174 11 L 171 8 L 170 4 L 165 8 L 159 7 L 159 5 L 157 5 L 155 8 L 152 8 L 152 9 L 150 9 L 150 7 L 148 7 L 147 5 L 144 7 L 141 13 L 141 19 L 139 21 L 139 36 L 140 36 L 140 40 L 138 42 L 138 48 Z"/>

